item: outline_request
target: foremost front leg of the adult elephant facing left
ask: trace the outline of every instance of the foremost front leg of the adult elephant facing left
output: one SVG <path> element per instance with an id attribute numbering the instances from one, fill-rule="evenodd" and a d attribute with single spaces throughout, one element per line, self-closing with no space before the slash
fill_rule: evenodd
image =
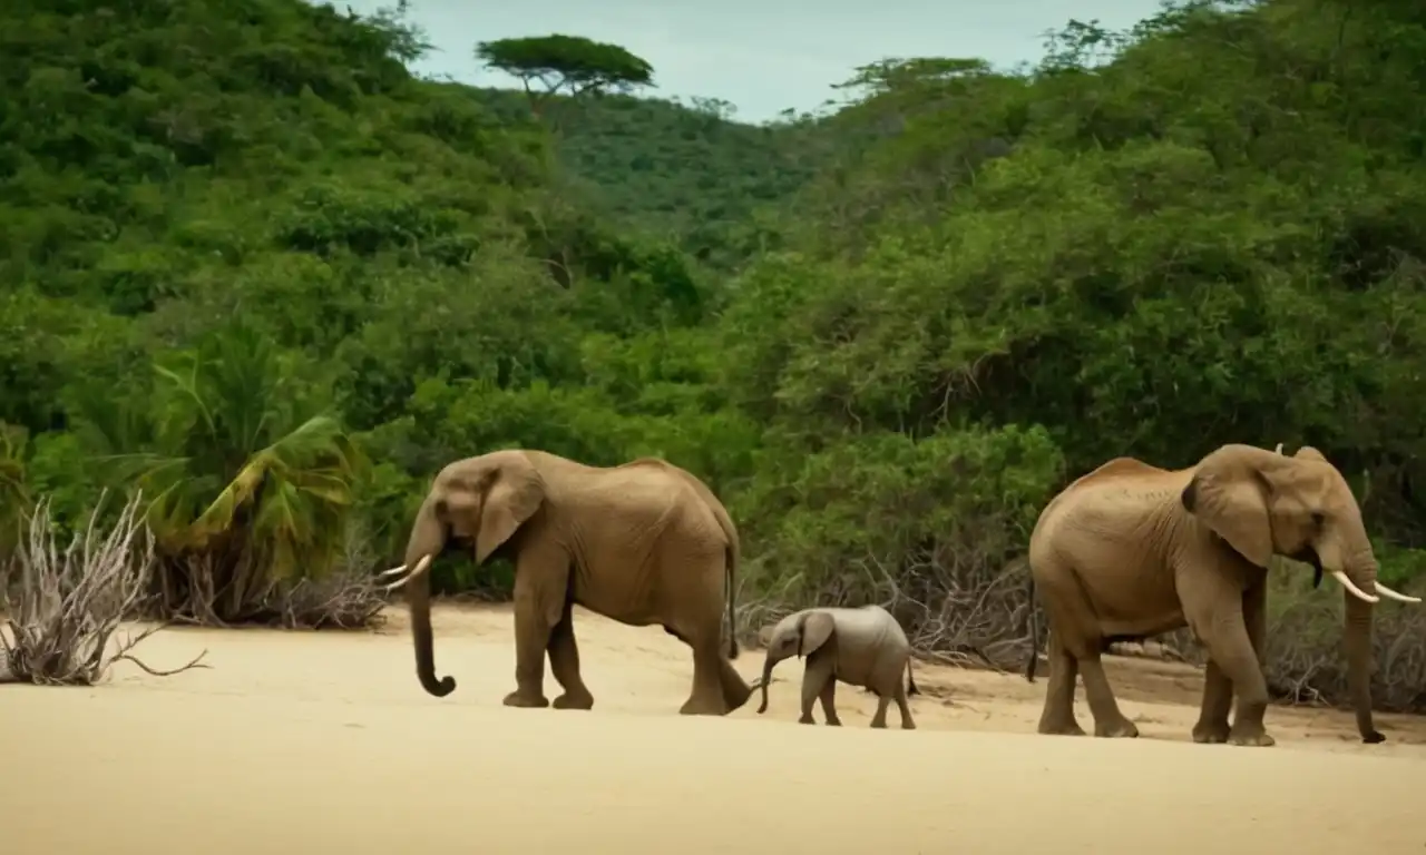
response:
<path id="1" fill-rule="evenodd" d="M 550 644 L 550 630 L 565 614 L 568 584 L 569 557 L 555 544 L 533 543 L 516 560 L 515 691 L 505 695 L 506 707 L 549 707 L 545 698 L 545 651 Z"/>

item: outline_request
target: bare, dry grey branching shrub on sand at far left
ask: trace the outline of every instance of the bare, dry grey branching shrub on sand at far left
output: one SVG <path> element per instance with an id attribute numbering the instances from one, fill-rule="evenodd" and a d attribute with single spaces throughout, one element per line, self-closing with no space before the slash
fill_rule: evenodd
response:
<path id="1" fill-rule="evenodd" d="M 153 624 L 127 636 L 110 650 L 120 623 L 145 603 L 154 567 L 154 544 L 138 513 L 135 494 L 107 533 L 98 517 L 104 504 L 90 513 L 88 526 L 76 533 L 60 551 L 50 526 L 50 503 L 41 499 L 29 524 L 29 537 L 14 560 L 0 569 L 0 594 L 6 600 L 9 633 L 0 633 L 6 678 L 48 685 L 93 685 L 108 668 L 128 660 L 157 677 L 167 677 L 201 664 L 207 650 L 188 664 L 157 671 L 131 653 L 144 638 L 165 624 Z"/>

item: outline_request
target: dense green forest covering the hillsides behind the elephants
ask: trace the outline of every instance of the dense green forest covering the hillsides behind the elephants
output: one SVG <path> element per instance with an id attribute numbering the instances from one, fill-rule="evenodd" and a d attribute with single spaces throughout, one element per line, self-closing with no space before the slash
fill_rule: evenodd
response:
<path id="1" fill-rule="evenodd" d="M 1018 667 L 1057 490 L 1281 442 L 1420 593 L 1422 4 L 1071 20 L 761 125 L 422 80 L 426 47 L 301 0 L 0 10 L 0 553 L 41 499 L 73 529 L 141 489 L 168 614 L 351 626 L 327 594 L 446 462 L 656 455 L 737 522 L 744 630 L 880 601 Z M 1273 576 L 1273 688 L 1336 701 L 1340 598 Z M 1373 695 L 1426 708 L 1426 617 L 1378 613 Z"/>

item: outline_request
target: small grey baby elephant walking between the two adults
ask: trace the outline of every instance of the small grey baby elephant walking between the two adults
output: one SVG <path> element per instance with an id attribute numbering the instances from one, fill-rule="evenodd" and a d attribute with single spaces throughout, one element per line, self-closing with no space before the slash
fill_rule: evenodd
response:
<path id="1" fill-rule="evenodd" d="M 837 681 L 850 685 L 864 685 L 877 694 L 877 714 L 871 727 L 887 725 L 887 705 L 896 701 L 901 711 L 901 727 L 915 730 L 911 721 L 908 694 L 920 694 L 911 678 L 911 644 L 901 631 L 901 624 L 880 606 L 861 608 L 803 608 L 789 614 L 773 627 L 767 644 L 767 660 L 763 663 L 763 704 L 759 714 L 767 711 L 767 683 L 773 678 L 773 665 L 790 656 L 807 657 L 803 670 L 803 724 L 814 724 L 811 704 L 821 698 L 821 711 L 827 724 L 840 725 L 833 694 Z M 906 668 L 906 688 L 901 687 L 901 668 Z"/>

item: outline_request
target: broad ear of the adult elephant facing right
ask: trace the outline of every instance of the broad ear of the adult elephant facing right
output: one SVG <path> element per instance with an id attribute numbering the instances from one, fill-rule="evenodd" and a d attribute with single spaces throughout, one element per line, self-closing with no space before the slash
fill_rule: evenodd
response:
<path id="1" fill-rule="evenodd" d="M 1246 446 L 1224 446 L 1198 465 L 1184 487 L 1184 507 L 1202 520 L 1233 550 L 1259 567 L 1272 560 L 1272 524 L 1268 519 L 1271 484 Z M 1301 453 L 1301 452 L 1299 452 Z"/>

